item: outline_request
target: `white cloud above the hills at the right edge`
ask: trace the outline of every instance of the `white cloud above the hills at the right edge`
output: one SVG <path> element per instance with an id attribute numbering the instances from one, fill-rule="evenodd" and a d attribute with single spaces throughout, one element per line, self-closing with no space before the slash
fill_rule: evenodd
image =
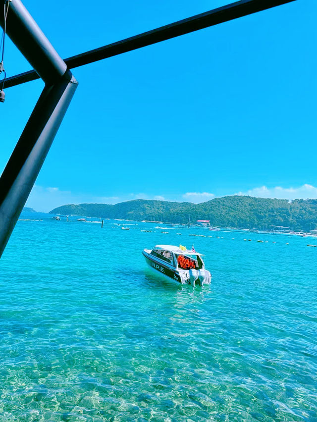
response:
<path id="1" fill-rule="evenodd" d="M 257 198 L 277 198 L 277 199 L 316 199 L 317 198 L 317 187 L 305 183 L 303 186 L 297 188 L 282 188 L 281 186 L 275 186 L 273 188 L 267 188 L 261 186 L 259 188 L 253 188 L 246 192 L 238 192 L 234 195 L 249 195 Z"/>

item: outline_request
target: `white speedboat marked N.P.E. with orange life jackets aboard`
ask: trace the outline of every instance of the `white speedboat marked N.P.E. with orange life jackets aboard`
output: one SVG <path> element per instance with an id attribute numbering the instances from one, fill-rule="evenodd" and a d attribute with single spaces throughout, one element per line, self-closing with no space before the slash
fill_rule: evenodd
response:
<path id="1" fill-rule="evenodd" d="M 144 249 L 142 254 L 150 268 L 178 284 L 203 286 L 211 283 L 211 273 L 205 269 L 203 255 L 194 248 L 157 245 Z"/>

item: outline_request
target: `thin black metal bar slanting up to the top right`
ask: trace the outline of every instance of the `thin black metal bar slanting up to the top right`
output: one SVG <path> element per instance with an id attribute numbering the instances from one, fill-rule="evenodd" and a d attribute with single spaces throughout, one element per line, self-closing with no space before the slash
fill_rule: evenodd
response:
<path id="1" fill-rule="evenodd" d="M 169 25 L 161 26 L 152 31 L 144 32 L 134 37 L 126 38 L 116 43 L 108 44 L 86 53 L 81 53 L 64 59 L 69 69 L 103 60 L 118 54 L 127 53 L 142 47 L 169 40 L 180 35 L 188 34 L 200 29 L 204 29 L 219 23 L 237 19 L 252 13 L 256 13 L 281 4 L 290 3 L 296 0 L 241 0 L 227 4 L 222 7 L 210 10 L 199 15 L 183 19 Z M 5 88 L 19 85 L 25 82 L 38 79 L 35 70 L 21 73 L 6 79 Z"/>

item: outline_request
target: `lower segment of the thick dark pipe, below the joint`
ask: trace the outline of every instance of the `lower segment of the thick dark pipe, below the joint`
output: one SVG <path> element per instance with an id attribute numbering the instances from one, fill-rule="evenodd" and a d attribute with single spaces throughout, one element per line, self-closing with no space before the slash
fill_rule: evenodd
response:
<path id="1" fill-rule="evenodd" d="M 0 256 L 77 88 L 68 75 L 46 85 L 0 178 Z"/>

